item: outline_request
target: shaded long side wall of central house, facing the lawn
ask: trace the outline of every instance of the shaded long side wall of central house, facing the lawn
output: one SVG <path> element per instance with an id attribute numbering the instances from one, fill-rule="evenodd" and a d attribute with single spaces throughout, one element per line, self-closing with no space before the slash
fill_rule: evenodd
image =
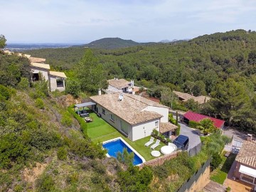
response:
<path id="1" fill-rule="evenodd" d="M 124 126 L 127 126 L 128 129 L 128 134 L 127 137 L 129 139 L 132 140 L 132 125 L 128 124 L 127 122 L 125 122 L 123 119 L 117 117 L 117 115 L 114 115 L 114 122 L 110 119 L 110 114 L 112 114 L 112 112 L 106 110 L 104 107 L 102 107 L 101 105 L 96 105 L 97 109 L 98 109 L 98 113 L 101 115 L 102 119 L 104 119 L 106 122 L 108 122 L 109 124 L 111 124 L 115 129 L 117 129 L 119 132 L 122 132 L 121 130 L 121 122 Z M 105 114 L 102 113 L 102 109 L 105 110 Z M 122 132 L 124 135 L 126 135 L 124 132 Z"/>

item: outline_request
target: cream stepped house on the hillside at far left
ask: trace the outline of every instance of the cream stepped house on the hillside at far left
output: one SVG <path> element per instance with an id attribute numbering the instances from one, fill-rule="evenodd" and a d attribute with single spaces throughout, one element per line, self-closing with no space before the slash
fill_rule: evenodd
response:
<path id="1" fill-rule="evenodd" d="M 43 76 L 45 80 L 48 80 L 50 91 L 63 91 L 65 90 L 65 79 L 67 78 L 65 73 L 58 71 L 50 71 L 50 65 L 46 64 L 45 58 L 33 58 L 31 55 L 26 55 L 22 53 L 14 53 L 9 50 L 4 50 L 6 54 L 17 54 L 20 57 L 26 57 L 31 61 L 31 73 L 32 81 L 39 80 L 39 73 Z"/>

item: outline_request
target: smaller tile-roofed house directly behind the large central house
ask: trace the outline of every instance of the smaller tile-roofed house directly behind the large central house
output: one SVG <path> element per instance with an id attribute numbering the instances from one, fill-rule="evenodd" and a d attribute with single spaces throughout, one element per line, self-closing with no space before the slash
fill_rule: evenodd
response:
<path id="1" fill-rule="evenodd" d="M 134 90 L 134 80 L 131 80 L 131 82 L 124 80 L 124 79 L 118 79 L 114 78 L 112 80 L 107 80 L 108 87 L 106 92 L 127 92 L 132 93 Z M 139 90 L 139 89 L 136 89 Z"/>

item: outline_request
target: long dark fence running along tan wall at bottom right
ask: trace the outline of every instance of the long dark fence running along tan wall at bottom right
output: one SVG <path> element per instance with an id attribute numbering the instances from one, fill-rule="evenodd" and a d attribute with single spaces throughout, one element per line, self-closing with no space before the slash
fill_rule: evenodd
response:
<path id="1" fill-rule="evenodd" d="M 193 186 L 193 183 L 197 182 L 198 178 L 206 171 L 206 168 L 208 166 L 210 166 L 210 161 L 211 161 L 211 159 L 208 159 L 206 161 L 206 163 L 204 163 L 203 166 L 201 166 L 201 168 L 198 169 L 198 171 L 195 174 L 193 174 L 193 176 L 191 176 L 191 178 L 188 179 L 188 181 L 183 183 L 181 188 L 178 189 L 178 192 L 188 191 L 191 188 L 191 186 Z"/>

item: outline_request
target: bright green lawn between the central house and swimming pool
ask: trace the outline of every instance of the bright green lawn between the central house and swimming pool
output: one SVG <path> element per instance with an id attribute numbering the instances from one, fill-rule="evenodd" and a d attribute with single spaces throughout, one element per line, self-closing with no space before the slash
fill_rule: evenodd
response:
<path id="1" fill-rule="evenodd" d="M 131 145 L 139 154 L 141 154 L 146 161 L 154 159 L 154 156 L 151 156 L 151 149 L 150 146 L 146 147 L 144 144 L 149 142 L 150 136 L 145 137 L 143 139 L 139 139 L 135 142 L 132 142 L 123 134 L 117 131 L 114 127 L 110 124 L 105 122 L 105 120 L 97 117 L 95 113 L 90 113 L 90 117 L 93 118 L 93 122 L 87 123 L 87 134 L 92 139 L 92 142 L 105 142 L 109 139 L 114 139 L 116 137 L 122 137 L 129 145 Z M 155 150 L 160 150 L 161 146 L 165 144 L 160 143 L 159 146 L 155 148 Z"/>

